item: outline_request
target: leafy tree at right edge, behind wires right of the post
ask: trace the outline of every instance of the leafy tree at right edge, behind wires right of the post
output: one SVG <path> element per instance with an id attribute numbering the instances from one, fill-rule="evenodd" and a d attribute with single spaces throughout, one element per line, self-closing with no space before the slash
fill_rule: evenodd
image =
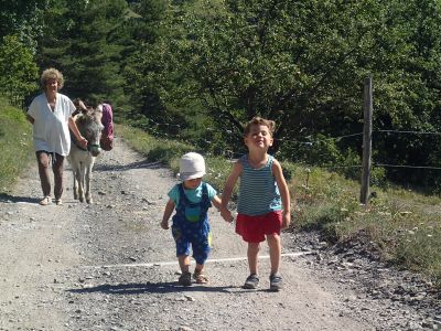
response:
<path id="1" fill-rule="evenodd" d="M 395 29 L 381 36 L 387 50 L 377 58 L 385 79 L 375 86 L 375 98 L 388 100 L 376 107 L 375 126 L 379 129 L 441 131 L 441 3 L 439 1 L 398 1 L 389 20 Z M 400 43 L 396 41 L 399 40 Z M 375 84 L 375 83 L 374 83 Z M 374 148 L 379 163 L 437 167 L 440 160 L 439 136 L 418 134 L 376 134 Z M 441 173 L 427 169 L 389 168 L 389 179 L 418 185 L 439 186 Z M 438 182 L 438 184 L 437 184 Z"/>

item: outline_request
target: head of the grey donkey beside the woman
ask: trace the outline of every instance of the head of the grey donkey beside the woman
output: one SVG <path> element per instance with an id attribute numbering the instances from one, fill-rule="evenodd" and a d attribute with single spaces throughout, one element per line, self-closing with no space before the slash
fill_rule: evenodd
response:
<path id="1" fill-rule="evenodd" d="M 87 150 L 94 157 L 97 157 L 101 152 L 99 147 L 99 140 L 101 139 L 104 129 L 101 117 L 103 113 L 99 109 L 88 107 L 87 111 L 83 111 L 76 119 L 76 126 L 79 132 L 87 139 Z"/>

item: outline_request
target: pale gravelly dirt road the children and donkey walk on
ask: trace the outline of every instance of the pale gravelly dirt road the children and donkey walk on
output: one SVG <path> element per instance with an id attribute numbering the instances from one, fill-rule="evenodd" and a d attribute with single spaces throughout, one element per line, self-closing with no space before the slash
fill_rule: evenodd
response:
<path id="1" fill-rule="evenodd" d="M 323 243 L 301 234 L 283 234 L 281 292 L 268 291 L 266 248 L 260 289 L 241 289 L 246 247 L 215 211 L 209 284 L 180 287 L 159 226 L 176 180 L 120 139 L 97 159 L 93 205 L 73 200 L 67 167 L 64 204 L 40 206 L 31 166 L 0 197 L 0 330 L 439 330 L 437 311 L 375 297 L 352 276 L 366 270 L 323 263 Z"/>

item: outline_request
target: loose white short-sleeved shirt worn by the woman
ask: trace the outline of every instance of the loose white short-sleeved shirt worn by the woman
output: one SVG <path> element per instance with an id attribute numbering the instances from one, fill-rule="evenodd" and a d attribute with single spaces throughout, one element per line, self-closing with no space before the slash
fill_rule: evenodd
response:
<path id="1" fill-rule="evenodd" d="M 74 103 L 61 93 L 56 94 L 54 111 L 52 111 L 44 93 L 32 100 L 28 114 L 34 119 L 33 139 L 35 151 L 45 150 L 61 156 L 69 153 L 71 134 L 68 119 L 74 111 Z"/>

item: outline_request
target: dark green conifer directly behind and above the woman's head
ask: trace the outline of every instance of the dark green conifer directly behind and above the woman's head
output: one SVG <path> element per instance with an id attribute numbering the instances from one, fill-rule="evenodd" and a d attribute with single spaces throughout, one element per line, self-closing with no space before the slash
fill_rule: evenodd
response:
<path id="1" fill-rule="evenodd" d="M 123 0 L 57 1 L 45 12 L 40 66 L 61 70 L 66 77 L 64 90 L 71 97 L 123 104 L 127 102 L 121 74 L 125 45 L 120 35 L 127 10 Z"/>

